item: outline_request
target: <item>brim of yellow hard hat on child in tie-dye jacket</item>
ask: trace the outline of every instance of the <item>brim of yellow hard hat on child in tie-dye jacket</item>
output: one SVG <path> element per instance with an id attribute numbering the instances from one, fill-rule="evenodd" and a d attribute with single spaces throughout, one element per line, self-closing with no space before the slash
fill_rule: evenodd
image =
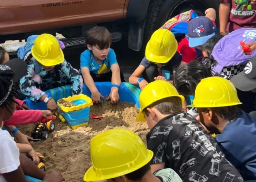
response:
<path id="1" fill-rule="evenodd" d="M 40 64 L 42 64 L 46 67 L 56 66 L 58 64 L 63 63 L 65 60 L 62 50 L 60 50 L 60 54 L 54 59 L 42 59 L 42 58 L 37 57 L 37 54 L 35 54 L 35 52 L 34 52 L 34 46 L 31 48 L 31 54 L 35 58 L 35 60 L 37 60 L 37 62 L 39 62 Z"/>

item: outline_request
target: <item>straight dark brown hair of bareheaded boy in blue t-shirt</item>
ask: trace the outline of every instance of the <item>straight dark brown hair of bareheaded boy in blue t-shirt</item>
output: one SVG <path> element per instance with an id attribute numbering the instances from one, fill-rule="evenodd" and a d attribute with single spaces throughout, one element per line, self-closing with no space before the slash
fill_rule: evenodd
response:
<path id="1" fill-rule="evenodd" d="M 105 27 L 93 27 L 86 32 L 86 44 L 99 46 L 100 49 L 109 48 L 112 43 L 112 35 Z"/>

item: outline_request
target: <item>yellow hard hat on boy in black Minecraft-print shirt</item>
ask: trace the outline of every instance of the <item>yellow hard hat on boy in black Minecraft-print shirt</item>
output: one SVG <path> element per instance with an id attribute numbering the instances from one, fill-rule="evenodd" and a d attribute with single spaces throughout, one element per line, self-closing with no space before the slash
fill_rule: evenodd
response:
<path id="1" fill-rule="evenodd" d="M 156 80 L 154 82 L 149 83 L 140 92 L 140 112 L 136 117 L 136 121 L 146 121 L 142 112 L 144 108 L 150 106 L 158 100 L 173 96 L 181 98 L 182 103 L 185 100 L 184 96 L 179 95 L 176 88 L 169 82 L 163 80 Z"/>

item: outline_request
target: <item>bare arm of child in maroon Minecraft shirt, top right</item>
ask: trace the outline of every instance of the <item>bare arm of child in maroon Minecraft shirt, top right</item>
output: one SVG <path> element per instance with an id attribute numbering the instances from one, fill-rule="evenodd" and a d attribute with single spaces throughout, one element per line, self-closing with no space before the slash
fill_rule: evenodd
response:
<path id="1" fill-rule="evenodd" d="M 221 0 L 221 4 L 219 5 L 219 32 L 221 35 L 226 35 L 230 7 L 231 0 Z"/>

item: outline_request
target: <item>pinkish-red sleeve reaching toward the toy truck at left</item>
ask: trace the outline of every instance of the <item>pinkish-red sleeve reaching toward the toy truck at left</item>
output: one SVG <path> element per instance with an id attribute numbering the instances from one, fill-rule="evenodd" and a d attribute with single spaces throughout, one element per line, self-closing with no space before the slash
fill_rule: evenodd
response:
<path id="1" fill-rule="evenodd" d="M 10 119 L 4 122 L 4 125 L 22 125 L 37 123 L 42 119 L 41 110 L 16 110 Z"/>

